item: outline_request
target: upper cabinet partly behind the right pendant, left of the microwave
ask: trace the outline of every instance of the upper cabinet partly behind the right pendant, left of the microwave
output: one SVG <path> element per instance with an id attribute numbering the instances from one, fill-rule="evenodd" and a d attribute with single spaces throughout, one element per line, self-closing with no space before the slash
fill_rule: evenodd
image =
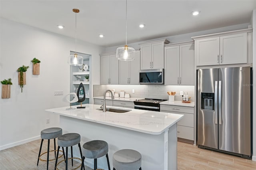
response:
<path id="1" fill-rule="evenodd" d="M 119 61 L 119 84 L 138 85 L 140 72 L 140 51 L 135 51 L 134 60 Z"/>

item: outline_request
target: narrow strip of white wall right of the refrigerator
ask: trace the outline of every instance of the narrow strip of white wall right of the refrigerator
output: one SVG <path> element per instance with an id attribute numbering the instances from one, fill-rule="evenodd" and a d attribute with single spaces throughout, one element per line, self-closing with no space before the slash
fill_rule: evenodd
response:
<path id="1" fill-rule="evenodd" d="M 253 67 L 253 156 L 252 160 L 256 161 L 256 9 L 252 14 L 252 67 Z"/>

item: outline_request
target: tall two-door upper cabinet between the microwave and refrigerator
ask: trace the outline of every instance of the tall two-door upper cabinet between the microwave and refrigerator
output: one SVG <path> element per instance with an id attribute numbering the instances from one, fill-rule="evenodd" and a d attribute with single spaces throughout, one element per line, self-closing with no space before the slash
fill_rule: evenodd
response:
<path id="1" fill-rule="evenodd" d="M 194 85 L 194 43 L 168 44 L 164 47 L 165 85 Z"/>

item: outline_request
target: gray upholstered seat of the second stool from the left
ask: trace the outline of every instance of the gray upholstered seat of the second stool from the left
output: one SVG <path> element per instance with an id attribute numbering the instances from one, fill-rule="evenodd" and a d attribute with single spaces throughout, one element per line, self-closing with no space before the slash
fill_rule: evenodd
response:
<path id="1" fill-rule="evenodd" d="M 68 147 L 80 143 L 81 136 L 78 133 L 67 133 L 58 137 L 58 146 Z"/>

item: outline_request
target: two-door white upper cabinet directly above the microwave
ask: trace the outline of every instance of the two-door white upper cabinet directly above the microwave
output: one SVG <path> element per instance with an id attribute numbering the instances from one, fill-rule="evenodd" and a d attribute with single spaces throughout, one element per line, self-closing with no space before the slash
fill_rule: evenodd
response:
<path id="1" fill-rule="evenodd" d="M 140 43 L 140 69 L 163 69 L 164 68 L 164 44 L 168 40 L 156 40 Z"/>

